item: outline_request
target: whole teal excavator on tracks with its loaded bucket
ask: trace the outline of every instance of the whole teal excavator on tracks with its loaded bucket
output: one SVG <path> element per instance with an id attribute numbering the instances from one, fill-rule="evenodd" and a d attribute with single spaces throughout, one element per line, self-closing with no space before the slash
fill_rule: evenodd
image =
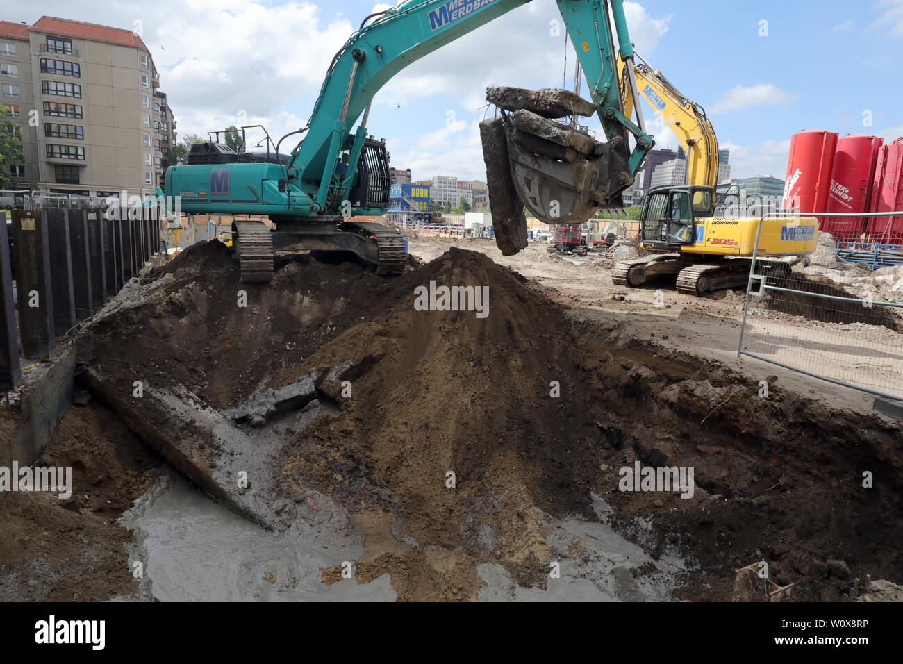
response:
<path id="1" fill-rule="evenodd" d="M 634 182 L 654 145 L 621 108 L 618 55 L 628 78 L 633 69 L 623 1 L 556 1 L 587 80 L 593 81 L 592 102 L 573 93 L 567 94 L 576 99 L 563 96 L 565 90 L 541 90 L 525 99 L 523 108 L 507 105 L 513 117 L 480 127 L 495 237 L 503 253 L 526 247 L 525 206 L 546 223 L 573 225 L 600 206 L 619 205 L 620 193 Z M 243 281 L 272 279 L 278 248 L 350 251 L 379 275 L 399 274 L 405 267 L 402 236 L 377 223 L 345 220 L 380 216 L 389 202 L 386 144 L 367 129 L 373 97 L 411 62 L 527 2 L 407 0 L 370 14 L 333 57 L 307 126 L 275 142 L 273 154 L 268 134 L 264 155 L 236 154 L 217 141 L 202 144 L 206 147 L 192 149 L 190 164 L 167 169 L 166 193 L 179 196 L 188 213 L 267 215 L 275 223 L 273 231 L 262 221 L 233 223 Z M 631 94 L 636 98 L 635 86 Z M 578 131 L 555 133 L 548 118 L 573 115 L 575 106 L 582 115 L 599 117 L 605 142 Z M 297 134 L 303 139 L 283 158 L 280 146 Z M 628 136 L 634 139 L 632 149 Z"/>

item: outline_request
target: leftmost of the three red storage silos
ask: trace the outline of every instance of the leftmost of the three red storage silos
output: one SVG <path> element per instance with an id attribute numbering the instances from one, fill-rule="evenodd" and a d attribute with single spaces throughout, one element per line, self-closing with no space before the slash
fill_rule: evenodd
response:
<path id="1" fill-rule="evenodd" d="M 835 152 L 837 134 L 834 132 L 808 129 L 794 134 L 787 160 L 784 207 L 805 213 L 827 210 Z M 819 218 L 819 224 L 822 221 Z"/>

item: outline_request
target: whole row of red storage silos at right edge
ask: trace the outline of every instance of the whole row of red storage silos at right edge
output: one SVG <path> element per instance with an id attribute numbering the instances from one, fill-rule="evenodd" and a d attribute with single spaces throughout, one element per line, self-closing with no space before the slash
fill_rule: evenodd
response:
<path id="1" fill-rule="evenodd" d="M 802 131 L 790 141 L 784 205 L 815 212 L 838 241 L 903 244 L 903 215 L 833 217 L 831 213 L 903 210 L 903 138 Z"/>

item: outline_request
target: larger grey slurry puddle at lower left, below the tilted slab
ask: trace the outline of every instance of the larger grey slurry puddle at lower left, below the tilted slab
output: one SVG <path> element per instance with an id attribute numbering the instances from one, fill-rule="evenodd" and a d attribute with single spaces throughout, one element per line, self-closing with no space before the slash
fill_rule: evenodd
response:
<path id="1" fill-rule="evenodd" d="M 172 477 L 137 500 L 122 523 L 135 531 L 129 565 L 144 566 L 143 594 L 162 602 L 395 601 L 387 574 L 365 585 L 321 582 L 323 568 L 363 551 L 330 520 L 295 519 L 276 535 Z"/>

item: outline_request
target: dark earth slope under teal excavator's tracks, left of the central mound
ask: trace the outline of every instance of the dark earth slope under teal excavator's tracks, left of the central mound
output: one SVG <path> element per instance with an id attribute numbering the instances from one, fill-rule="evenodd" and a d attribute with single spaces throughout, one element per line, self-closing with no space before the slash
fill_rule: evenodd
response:
<path id="1" fill-rule="evenodd" d="M 275 267 L 272 284 L 243 284 L 221 242 L 191 246 L 159 271 L 161 285 L 142 304 L 98 323 L 96 361 L 230 407 L 284 384 L 284 373 L 399 296 L 354 262 L 300 254 L 277 256 Z"/>

